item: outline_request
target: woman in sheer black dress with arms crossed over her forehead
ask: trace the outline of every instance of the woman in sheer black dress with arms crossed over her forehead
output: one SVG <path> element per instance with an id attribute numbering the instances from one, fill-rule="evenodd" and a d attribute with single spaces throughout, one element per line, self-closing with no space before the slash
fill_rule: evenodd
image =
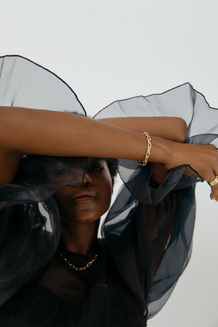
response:
<path id="1" fill-rule="evenodd" d="M 117 101 L 92 120 L 54 74 L 19 56 L 3 59 L 2 325 L 145 326 L 190 258 L 196 182 L 215 180 L 210 197 L 218 200 L 218 152 L 210 144 L 218 137 L 217 112 L 210 108 L 199 134 L 197 110 L 189 124 L 147 117 L 149 108 L 131 120 L 101 117 L 119 110 L 131 116 L 133 106 L 141 112 L 140 97 Z M 168 115 L 174 96 L 167 96 Z M 152 144 L 147 159 L 144 130 Z M 97 239 L 115 168 L 125 186 Z"/>

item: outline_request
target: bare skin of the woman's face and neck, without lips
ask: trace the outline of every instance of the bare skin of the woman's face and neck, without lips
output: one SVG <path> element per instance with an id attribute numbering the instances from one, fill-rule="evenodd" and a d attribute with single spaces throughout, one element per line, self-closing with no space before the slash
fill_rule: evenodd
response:
<path id="1" fill-rule="evenodd" d="M 105 160 L 88 157 L 88 171 L 83 185 L 77 188 L 65 186 L 55 193 L 61 217 L 60 246 L 66 250 L 82 253 L 92 259 L 99 253 L 97 234 L 100 217 L 109 209 L 113 192 L 113 178 Z M 73 163 L 72 163 L 73 164 Z M 58 167 L 60 169 L 61 167 Z M 46 178 L 57 181 L 57 167 L 46 167 Z M 79 189 L 92 190 L 97 199 L 86 202 L 70 202 Z"/>

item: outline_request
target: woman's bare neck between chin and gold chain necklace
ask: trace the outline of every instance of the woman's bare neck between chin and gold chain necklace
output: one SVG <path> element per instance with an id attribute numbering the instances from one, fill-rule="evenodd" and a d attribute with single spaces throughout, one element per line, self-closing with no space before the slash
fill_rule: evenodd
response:
<path id="1" fill-rule="evenodd" d="M 99 254 L 97 241 L 100 218 L 88 222 L 79 223 L 61 219 L 61 236 L 59 245 L 71 252 L 81 253 L 93 259 Z"/>

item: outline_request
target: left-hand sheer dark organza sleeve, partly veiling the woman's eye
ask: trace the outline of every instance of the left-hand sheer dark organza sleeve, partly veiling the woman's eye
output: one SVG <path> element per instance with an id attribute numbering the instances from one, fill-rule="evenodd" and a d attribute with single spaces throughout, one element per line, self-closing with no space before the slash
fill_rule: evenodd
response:
<path id="1" fill-rule="evenodd" d="M 63 80 L 20 56 L 0 58 L 0 106 L 86 116 L 77 96 Z M 55 169 L 57 164 L 71 170 L 55 183 L 46 179 L 43 171 L 46 166 Z M 66 184 L 80 186 L 86 170 L 86 158 L 26 155 L 14 181 L 0 186 L 0 305 L 53 256 L 61 232 L 53 195 Z"/>

